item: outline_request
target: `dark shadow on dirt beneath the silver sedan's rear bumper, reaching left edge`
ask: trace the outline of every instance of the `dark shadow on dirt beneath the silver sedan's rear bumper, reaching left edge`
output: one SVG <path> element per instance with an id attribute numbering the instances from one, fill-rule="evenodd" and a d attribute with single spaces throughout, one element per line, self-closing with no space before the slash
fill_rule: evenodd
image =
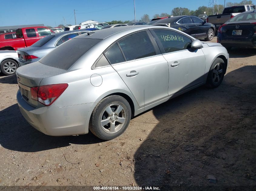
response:
<path id="1" fill-rule="evenodd" d="M 0 111 L 0 145 L 13 151 L 37 152 L 72 144 L 94 144 L 103 142 L 91 132 L 79 136 L 49 136 L 29 125 L 14 104 Z"/>

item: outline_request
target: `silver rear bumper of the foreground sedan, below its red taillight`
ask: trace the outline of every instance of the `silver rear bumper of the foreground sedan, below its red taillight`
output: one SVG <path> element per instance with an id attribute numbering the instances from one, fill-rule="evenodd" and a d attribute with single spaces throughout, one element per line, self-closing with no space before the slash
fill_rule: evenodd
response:
<path id="1" fill-rule="evenodd" d="M 52 136 L 80 135 L 88 133 L 88 111 L 93 103 L 67 107 L 32 107 L 17 92 L 19 109 L 26 121 L 38 131 Z M 88 119 L 87 119 L 88 118 Z"/>

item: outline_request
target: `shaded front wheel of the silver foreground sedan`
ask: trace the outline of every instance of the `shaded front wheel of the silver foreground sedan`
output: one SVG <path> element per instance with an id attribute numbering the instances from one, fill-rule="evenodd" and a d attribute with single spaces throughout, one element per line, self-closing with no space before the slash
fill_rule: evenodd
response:
<path id="1" fill-rule="evenodd" d="M 219 65 L 219 69 L 218 69 Z M 221 58 L 216 58 L 211 65 L 211 68 L 208 72 L 206 85 L 209 88 L 217 88 L 223 78 L 226 71 L 226 64 Z"/>

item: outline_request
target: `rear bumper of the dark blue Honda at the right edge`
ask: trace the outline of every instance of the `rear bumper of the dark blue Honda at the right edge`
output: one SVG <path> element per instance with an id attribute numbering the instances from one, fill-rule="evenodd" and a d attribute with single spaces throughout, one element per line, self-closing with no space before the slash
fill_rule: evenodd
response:
<path id="1" fill-rule="evenodd" d="M 218 35 L 218 43 L 224 47 L 256 48 L 256 34 L 253 37 L 223 37 Z"/>

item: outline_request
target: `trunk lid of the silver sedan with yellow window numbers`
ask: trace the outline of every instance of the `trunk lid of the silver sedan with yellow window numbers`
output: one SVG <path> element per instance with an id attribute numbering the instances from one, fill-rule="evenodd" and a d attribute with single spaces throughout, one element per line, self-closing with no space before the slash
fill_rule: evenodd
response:
<path id="1" fill-rule="evenodd" d="M 38 102 L 31 99 L 30 88 L 37 87 L 43 78 L 68 72 L 67 70 L 44 65 L 40 62 L 24 65 L 17 69 L 16 76 L 19 91 L 24 100 L 32 107 L 37 107 Z"/>

